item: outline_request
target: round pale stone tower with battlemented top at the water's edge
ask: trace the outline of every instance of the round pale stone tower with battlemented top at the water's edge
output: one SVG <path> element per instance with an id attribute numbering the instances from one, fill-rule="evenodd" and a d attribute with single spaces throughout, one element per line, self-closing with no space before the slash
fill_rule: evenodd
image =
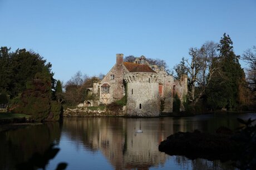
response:
<path id="1" fill-rule="evenodd" d="M 156 73 L 136 72 L 124 76 L 127 115 L 155 117 L 160 114 L 159 78 Z"/>

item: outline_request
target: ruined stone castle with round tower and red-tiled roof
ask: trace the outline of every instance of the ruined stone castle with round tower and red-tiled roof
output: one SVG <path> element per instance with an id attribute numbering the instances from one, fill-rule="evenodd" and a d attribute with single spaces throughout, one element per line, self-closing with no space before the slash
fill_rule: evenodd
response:
<path id="1" fill-rule="evenodd" d="M 116 64 L 109 73 L 99 83 L 93 83 L 93 87 L 87 91 L 94 94 L 96 99 L 86 100 L 84 105 L 110 104 L 126 95 L 127 116 L 155 117 L 160 112 L 173 112 L 174 96 L 178 95 L 180 111 L 183 111 L 187 82 L 185 75 L 181 80 L 174 80 L 164 68 L 149 65 L 143 55 L 134 63 L 129 63 L 124 62 L 123 54 L 116 54 Z"/>

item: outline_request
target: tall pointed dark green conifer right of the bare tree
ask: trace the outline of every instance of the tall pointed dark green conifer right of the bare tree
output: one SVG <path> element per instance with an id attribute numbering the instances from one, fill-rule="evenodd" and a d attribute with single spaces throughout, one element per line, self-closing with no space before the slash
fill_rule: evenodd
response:
<path id="1" fill-rule="evenodd" d="M 221 86 L 221 96 L 215 97 L 215 100 L 225 101 L 222 107 L 228 110 L 243 104 L 243 92 L 245 88 L 245 75 L 244 71 L 239 64 L 239 56 L 235 55 L 233 51 L 233 42 L 229 35 L 224 33 L 218 45 L 220 70 L 213 74 L 213 84 L 209 86 L 209 94 L 217 91 L 216 85 Z M 209 95 L 208 94 L 208 95 Z M 208 100 L 208 104 L 210 104 Z"/>

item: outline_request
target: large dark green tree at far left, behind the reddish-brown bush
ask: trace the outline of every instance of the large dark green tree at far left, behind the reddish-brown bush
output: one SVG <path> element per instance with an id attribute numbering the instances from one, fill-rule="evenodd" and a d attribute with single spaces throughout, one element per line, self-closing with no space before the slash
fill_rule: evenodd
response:
<path id="1" fill-rule="evenodd" d="M 55 84 L 51 63 L 46 63 L 42 56 L 26 49 L 1 47 L 0 50 L 0 91 L 6 91 L 11 99 L 26 90 L 27 81 L 31 81 L 36 73 L 47 71 L 51 75 L 51 85 Z M 32 88 L 32 87 L 29 87 Z"/>

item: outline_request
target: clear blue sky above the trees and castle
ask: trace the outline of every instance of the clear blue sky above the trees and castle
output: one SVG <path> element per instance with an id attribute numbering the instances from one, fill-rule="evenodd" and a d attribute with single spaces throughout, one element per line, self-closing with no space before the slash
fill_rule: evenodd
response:
<path id="1" fill-rule="evenodd" d="M 64 83 L 107 74 L 119 53 L 173 68 L 224 33 L 237 55 L 256 45 L 256 0 L 0 0 L 0 17 L 0 46 L 35 51 Z"/>

